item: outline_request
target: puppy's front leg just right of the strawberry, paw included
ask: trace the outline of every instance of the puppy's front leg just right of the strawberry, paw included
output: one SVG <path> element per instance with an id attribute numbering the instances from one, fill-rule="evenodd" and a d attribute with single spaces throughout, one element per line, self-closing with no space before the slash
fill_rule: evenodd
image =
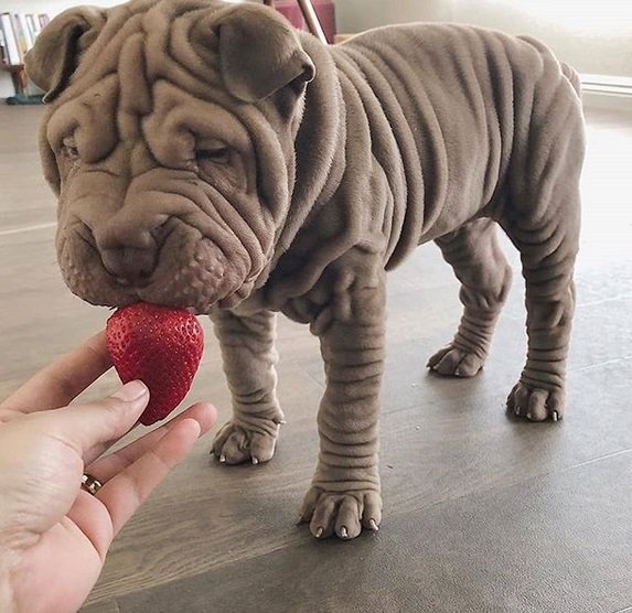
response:
<path id="1" fill-rule="evenodd" d="M 212 453 L 227 464 L 266 462 L 283 420 L 277 400 L 276 314 L 217 311 L 211 316 L 233 396 L 233 419 L 217 432 Z"/>

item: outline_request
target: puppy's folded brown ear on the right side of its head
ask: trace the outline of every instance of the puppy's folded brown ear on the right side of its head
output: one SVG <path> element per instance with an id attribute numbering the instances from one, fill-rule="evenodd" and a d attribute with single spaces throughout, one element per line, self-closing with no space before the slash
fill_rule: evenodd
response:
<path id="1" fill-rule="evenodd" d="M 228 92 L 256 103 L 290 85 L 302 92 L 315 67 L 296 31 L 267 7 L 242 4 L 218 15 L 219 68 Z"/>

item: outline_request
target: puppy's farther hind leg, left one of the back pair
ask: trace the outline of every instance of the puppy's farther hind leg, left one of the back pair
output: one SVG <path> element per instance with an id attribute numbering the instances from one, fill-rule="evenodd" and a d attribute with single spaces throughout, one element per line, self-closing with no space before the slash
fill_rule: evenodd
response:
<path id="1" fill-rule="evenodd" d="M 512 282 L 512 269 L 496 238 L 496 223 L 469 222 L 436 240 L 461 281 L 464 310 L 452 342 L 428 361 L 440 375 L 471 377 L 483 366 L 492 333 Z"/>

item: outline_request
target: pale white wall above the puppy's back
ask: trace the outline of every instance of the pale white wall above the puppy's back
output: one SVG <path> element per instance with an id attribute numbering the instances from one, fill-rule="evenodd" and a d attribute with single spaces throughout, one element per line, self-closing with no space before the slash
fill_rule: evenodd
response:
<path id="1" fill-rule="evenodd" d="M 632 0 L 335 0 L 340 32 L 457 21 L 529 34 L 582 73 L 632 77 Z"/>

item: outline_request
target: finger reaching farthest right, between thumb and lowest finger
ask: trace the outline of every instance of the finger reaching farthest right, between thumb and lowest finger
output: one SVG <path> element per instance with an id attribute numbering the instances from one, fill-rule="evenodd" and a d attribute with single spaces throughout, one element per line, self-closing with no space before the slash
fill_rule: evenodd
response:
<path id="1" fill-rule="evenodd" d="M 92 464 L 86 466 L 86 472 L 94 477 L 98 478 L 101 483 L 106 483 L 115 477 L 118 473 L 122 472 L 130 464 L 133 464 L 141 455 L 147 453 L 150 449 L 156 448 L 167 432 L 173 429 L 178 423 L 184 419 L 194 419 L 201 428 L 201 434 L 205 434 L 215 423 L 217 419 L 217 411 L 213 405 L 207 402 L 197 402 L 182 411 L 176 418 L 172 419 L 169 423 L 157 428 L 146 434 L 144 437 L 131 442 L 124 449 L 120 449 L 110 455 L 99 458 Z M 89 460 L 86 459 L 86 463 Z"/>

